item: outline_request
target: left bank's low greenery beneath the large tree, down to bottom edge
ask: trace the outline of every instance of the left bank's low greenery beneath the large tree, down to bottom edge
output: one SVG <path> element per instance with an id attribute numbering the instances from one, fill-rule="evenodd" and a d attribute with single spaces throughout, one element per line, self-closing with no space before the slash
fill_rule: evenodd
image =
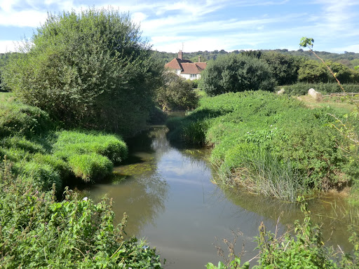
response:
<path id="1" fill-rule="evenodd" d="M 127 156 L 121 137 L 61 130 L 10 93 L 0 100 L 0 268 L 161 268 L 155 249 L 124 240 L 111 202 L 65 188 L 111 175 Z"/>

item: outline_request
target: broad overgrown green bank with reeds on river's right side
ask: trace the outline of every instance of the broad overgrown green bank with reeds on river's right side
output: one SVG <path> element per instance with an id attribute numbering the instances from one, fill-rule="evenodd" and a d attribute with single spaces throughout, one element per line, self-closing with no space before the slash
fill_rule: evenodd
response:
<path id="1" fill-rule="evenodd" d="M 213 146 L 217 183 L 293 201 L 355 181 L 358 149 L 330 127 L 334 112 L 269 92 L 228 93 L 203 97 L 168 127 L 171 139 Z"/>

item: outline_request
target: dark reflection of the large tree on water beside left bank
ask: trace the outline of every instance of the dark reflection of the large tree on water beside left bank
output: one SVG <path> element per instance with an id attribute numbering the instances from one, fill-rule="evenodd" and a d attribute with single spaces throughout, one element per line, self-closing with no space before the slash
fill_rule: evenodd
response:
<path id="1" fill-rule="evenodd" d="M 95 200 L 104 193 L 113 198 L 116 223 L 124 212 L 128 214 L 128 236 L 139 235 L 150 223 L 155 225 L 158 214 L 165 210 L 168 184 L 157 170 L 158 158 L 168 151 L 165 132 L 163 127 L 154 127 L 131 140 L 130 156 L 125 165 L 115 167 L 112 183 L 90 188 L 90 197 Z"/>

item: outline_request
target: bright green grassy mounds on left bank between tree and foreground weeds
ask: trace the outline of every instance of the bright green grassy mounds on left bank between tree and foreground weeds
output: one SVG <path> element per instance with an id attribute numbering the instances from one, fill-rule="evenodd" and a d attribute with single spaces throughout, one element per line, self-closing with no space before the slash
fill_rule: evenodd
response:
<path id="1" fill-rule="evenodd" d="M 44 190 L 55 184 L 61 193 L 74 181 L 108 177 L 113 165 L 127 156 L 127 146 L 118 135 L 55 131 L 59 125 L 41 109 L 16 102 L 6 93 L 1 99 L 0 158 L 11 161 L 15 175 L 32 177 Z"/>

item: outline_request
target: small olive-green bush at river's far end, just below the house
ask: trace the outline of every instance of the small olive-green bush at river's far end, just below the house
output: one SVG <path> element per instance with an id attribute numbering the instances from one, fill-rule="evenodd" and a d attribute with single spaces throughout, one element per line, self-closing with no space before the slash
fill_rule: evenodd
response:
<path id="1" fill-rule="evenodd" d="M 163 85 L 156 92 L 156 102 L 163 111 L 189 110 L 194 109 L 198 97 L 188 81 L 172 72 L 165 72 Z"/>

